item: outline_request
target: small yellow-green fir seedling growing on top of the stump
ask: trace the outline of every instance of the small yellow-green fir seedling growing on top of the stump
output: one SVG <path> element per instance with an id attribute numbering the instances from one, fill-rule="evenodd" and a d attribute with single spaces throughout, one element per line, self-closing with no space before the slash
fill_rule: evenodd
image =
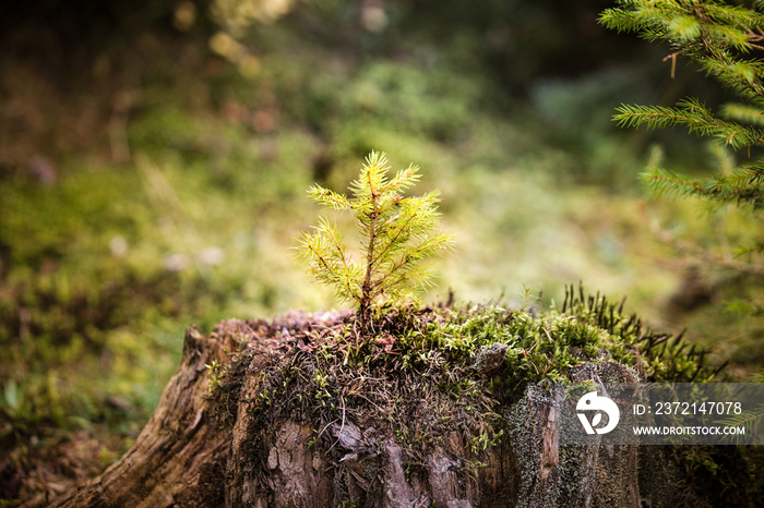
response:
<path id="1" fill-rule="evenodd" d="M 451 245 L 439 228 L 438 191 L 403 195 L 419 181 L 419 168 L 409 166 L 393 179 L 387 178 L 389 169 L 385 155 L 372 152 L 350 185 L 353 198 L 321 185 L 308 191 L 313 201 L 355 216 L 361 259 L 353 258 L 343 231 L 326 218 L 312 232 L 303 232 L 297 247 L 319 281 L 334 287 L 339 300 L 355 302 L 365 332 L 372 331 L 372 305 L 380 299 L 399 303 L 429 286 L 431 264 L 425 259 Z"/>

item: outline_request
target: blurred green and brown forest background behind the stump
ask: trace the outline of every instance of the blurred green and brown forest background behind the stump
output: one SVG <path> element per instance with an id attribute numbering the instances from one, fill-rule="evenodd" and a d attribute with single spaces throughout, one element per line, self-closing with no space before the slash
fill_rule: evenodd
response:
<path id="1" fill-rule="evenodd" d="M 735 209 L 653 199 L 638 173 L 740 156 L 622 131 L 622 102 L 725 90 L 582 0 L 43 0 L 0 16 L 0 499 L 126 451 L 183 329 L 337 306 L 290 247 L 372 149 L 419 165 L 456 250 L 426 301 L 584 282 L 688 329 L 744 378 L 764 364 L 762 273 Z M 718 263 L 717 263 L 718 262 Z M 41 468 L 41 469 L 40 469 Z M 26 473 L 22 471 L 27 471 Z M 58 475 L 58 476 L 57 476 Z M 51 486 L 52 485 L 52 486 Z M 21 493 L 20 493 L 21 492 Z M 1 501 L 0 501 L 1 503 Z"/>

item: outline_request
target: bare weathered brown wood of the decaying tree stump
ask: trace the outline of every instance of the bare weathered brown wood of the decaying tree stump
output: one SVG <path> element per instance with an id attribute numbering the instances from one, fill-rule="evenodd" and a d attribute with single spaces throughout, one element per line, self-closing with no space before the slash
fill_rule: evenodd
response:
<path id="1" fill-rule="evenodd" d="M 308 349 L 299 338 L 306 324 L 329 327 L 344 317 L 227 320 L 210 337 L 189 328 L 180 368 L 132 449 L 52 504 L 37 498 L 25 506 L 638 507 L 641 487 L 653 488 L 640 484 L 636 447 L 561 452 L 556 410 L 541 389 L 502 409 L 514 431 L 496 446 L 476 453 L 463 436 L 443 435 L 416 464 L 381 425 L 337 421 L 320 430 L 330 436 L 323 440 L 315 439 L 314 425 L 291 419 L 258 427 L 251 401 L 262 396 L 263 370 L 286 349 Z M 225 364 L 240 350 L 250 354 L 238 394 L 212 397 L 205 365 Z M 586 368 L 608 375 L 601 366 Z M 608 368 L 628 375 L 618 364 Z M 655 476 L 652 482 L 665 480 Z M 670 496 L 652 506 L 661 504 L 670 504 Z"/>

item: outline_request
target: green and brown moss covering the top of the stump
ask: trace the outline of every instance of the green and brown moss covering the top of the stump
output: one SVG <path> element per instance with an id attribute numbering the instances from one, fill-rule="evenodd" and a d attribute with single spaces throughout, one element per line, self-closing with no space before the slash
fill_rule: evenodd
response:
<path id="1" fill-rule="evenodd" d="M 583 298 L 583 290 L 574 295 L 569 289 L 563 310 L 510 310 L 494 302 L 377 312 L 377 335 L 366 339 L 356 336 L 353 318 L 329 341 L 287 329 L 307 334 L 313 347 L 291 349 L 262 372 L 252 434 L 287 419 L 324 431 L 353 422 L 395 436 L 411 464 L 425 463 L 443 436 L 456 435 L 479 464 L 480 455 L 502 439 L 533 440 L 516 435 L 522 425 L 513 424 L 506 408 L 522 404 L 528 386 L 542 396 L 545 383 L 564 382 L 575 365 L 617 361 L 642 380 L 713 376 L 702 355 L 681 347 L 681 337 L 664 348 L 668 338 L 645 330 L 602 297 Z M 482 359 L 497 351 L 503 361 L 489 368 Z M 230 416 L 252 354 L 244 350 L 216 377 L 213 397 L 224 400 Z M 330 449 L 330 436 L 318 432 L 313 444 Z M 569 451 L 574 463 L 575 450 Z M 515 452 L 522 458 L 523 450 Z M 464 473 L 469 477 L 470 471 Z M 530 482 L 533 471 L 527 474 Z"/>

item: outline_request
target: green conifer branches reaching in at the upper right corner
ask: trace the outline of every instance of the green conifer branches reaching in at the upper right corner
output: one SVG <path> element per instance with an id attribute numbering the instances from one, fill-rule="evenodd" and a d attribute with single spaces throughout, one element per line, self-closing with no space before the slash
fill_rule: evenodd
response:
<path id="1" fill-rule="evenodd" d="M 690 133 L 715 140 L 720 145 L 742 152 L 750 159 L 764 148 L 764 1 L 723 0 L 621 0 L 607 9 L 599 21 L 618 32 L 636 33 L 650 41 L 671 48 L 671 73 L 678 58 L 699 64 L 738 100 L 716 114 L 695 98 L 673 107 L 622 105 L 613 120 L 623 128 L 666 129 L 681 126 Z M 751 211 L 754 219 L 764 210 L 764 160 L 735 162 L 729 150 L 719 157 L 719 171 L 707 178 L 691 178 L 652 168 L 641 176 L 643 183 L 658 196 L 691 196 L 702 199 L 709 211 L 733 205 Z M 744 152 L 743 152 L 744 150 Z M 659 234 L 666 239 L 666 234 Z M 670 235 L 669 235 L 670 237 Z M 707 247 L 680 244 L 699 265 L 723 267 L 761 276 L 764 243 L 756 235 L 747 241 L 736 239 L 733 249 L 721 240 L 721 255 Z M 733 258 L 736 257 L 736 258 Z"/>

